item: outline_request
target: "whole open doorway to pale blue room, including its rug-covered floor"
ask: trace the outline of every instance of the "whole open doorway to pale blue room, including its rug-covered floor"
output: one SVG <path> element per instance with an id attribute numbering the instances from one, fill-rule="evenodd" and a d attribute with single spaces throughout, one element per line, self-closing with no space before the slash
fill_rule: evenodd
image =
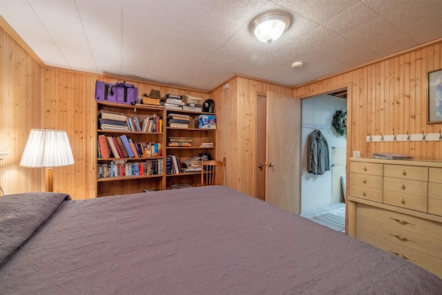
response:
<path id="1" fill-rule="evenodd" d="M 302 99 L 301 113 L 300 216 L 344 232 L 347 88 Z M 327 157 L 328 169 L 308 160 L 312 156 L 309 140 L 314 146 L 326 142 L 320 153 Z"/>

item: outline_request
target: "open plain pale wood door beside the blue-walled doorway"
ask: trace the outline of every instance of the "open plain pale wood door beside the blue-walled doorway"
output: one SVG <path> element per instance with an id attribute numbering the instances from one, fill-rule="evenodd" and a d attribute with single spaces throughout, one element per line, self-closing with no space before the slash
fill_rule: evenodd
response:
<path id="1" fill-rule="evenodd" d="M 266 201 L 300 213 L 300 99 L 267 91 Z"/>

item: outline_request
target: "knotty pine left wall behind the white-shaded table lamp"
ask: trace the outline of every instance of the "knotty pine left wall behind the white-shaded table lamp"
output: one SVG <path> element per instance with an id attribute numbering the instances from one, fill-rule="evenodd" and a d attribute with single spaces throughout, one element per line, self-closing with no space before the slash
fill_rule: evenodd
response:
<path id="1" fill-rule="evenodd" d="M 43 62 L 0 17 L 0 184 L 4 193 L 41 191 L 44 171 L 20 167 L 30 129 L 43 127 Z"/>

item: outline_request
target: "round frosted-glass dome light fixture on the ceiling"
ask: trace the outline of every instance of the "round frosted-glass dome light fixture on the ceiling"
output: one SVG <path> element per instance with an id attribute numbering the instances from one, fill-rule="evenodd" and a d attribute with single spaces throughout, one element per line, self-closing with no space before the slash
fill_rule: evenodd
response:
<path id="1" fill-rule="evenodd" d="M 286 12 L 273 11 L 259 15 L 251 22 L 250 30 L 261 42 L 271 44 L 285 32 L 291 23 Z"/>

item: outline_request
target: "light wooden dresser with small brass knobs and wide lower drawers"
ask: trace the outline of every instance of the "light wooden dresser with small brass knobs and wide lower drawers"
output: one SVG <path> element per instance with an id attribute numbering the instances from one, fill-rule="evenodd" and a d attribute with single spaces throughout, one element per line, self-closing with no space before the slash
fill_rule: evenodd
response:
<path id="1" fill-rule="evenodd" d="M 349 236 L 442 278 L 442 162 L 350 158 Z"/>

